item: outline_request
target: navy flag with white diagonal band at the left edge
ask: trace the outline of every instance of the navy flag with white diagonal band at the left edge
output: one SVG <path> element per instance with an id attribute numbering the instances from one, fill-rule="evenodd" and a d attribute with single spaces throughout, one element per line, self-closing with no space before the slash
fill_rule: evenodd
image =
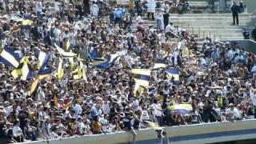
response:
<path id="1" fill-rule="evenodd" d="M 0 53 L 0 62 L 7 66 L 18 68 L 20 60 L 18 54 L 15 54 L 14 50 L 9 47 L 4 48 Z"/>

